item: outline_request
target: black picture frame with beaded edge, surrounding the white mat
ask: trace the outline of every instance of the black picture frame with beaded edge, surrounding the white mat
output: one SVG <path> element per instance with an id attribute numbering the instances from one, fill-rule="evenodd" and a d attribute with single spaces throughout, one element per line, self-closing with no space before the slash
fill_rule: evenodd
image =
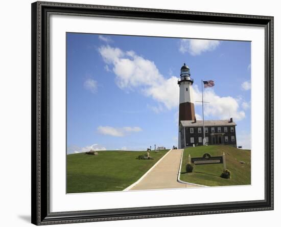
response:
<path id="1" fill-rule="evenodd" d="M 35 2 L 32 7 L 32 223 L 61 224 L 273 210 L 273 17 L 165 9 Z M 83 15 L 208 24 L 265 30 L 265 199 L 158 207 L 50 212 L 49 15 Z"/>

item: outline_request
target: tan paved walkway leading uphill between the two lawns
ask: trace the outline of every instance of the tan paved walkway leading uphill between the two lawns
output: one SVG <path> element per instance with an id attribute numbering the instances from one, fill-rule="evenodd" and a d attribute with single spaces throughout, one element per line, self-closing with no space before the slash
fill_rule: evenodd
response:
<path id="1" fill-rule="evenodd" d="M 162 160 L 130 190 L 194 188 L 198 186 L 177 181 L 183 149 L 171 150 Z"/>

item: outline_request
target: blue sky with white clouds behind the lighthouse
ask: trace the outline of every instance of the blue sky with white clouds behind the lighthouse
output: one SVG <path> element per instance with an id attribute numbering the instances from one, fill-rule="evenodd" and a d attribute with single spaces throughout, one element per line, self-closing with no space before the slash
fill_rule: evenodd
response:
<path id="1" fill-rule="evenodd" d="M 251 43 L 67 33 L 67 153 L 177 146 L 185 62 L 204 117 L 233 118 L 237 145 L 250 148 Z M 202 106 L 195 103 L 197 119 Z"/>

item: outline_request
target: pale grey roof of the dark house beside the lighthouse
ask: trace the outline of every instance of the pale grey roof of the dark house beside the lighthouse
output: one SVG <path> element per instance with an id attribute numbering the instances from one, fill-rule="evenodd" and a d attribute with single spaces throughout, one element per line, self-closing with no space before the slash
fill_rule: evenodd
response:
<path id="1" fill-rule="evenodd" d="M 193 120 L 190 121 L 180 121 L 181 125 L 183 127 L 200 127 L 203 126 L 203 121 L 196 120 L 194 122 Z M 205 120 L 204 126 L 236 126 L 235 122 L 230 122 L 229 120 Z"/>

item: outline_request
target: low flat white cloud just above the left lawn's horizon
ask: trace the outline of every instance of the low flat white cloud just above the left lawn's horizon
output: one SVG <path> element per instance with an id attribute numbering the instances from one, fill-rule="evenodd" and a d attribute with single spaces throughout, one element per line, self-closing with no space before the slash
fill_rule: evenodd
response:
<path id="1" fill-rule="evenodd" d="M 111 135 L 112 137 L 124 137 L 126 134 L 132 132 L 140 132 L 142 129 L 140 127 L 123 127 L 114 128 L 111 126 L 99 126 L 98 132 L 104 135 Z"/>

